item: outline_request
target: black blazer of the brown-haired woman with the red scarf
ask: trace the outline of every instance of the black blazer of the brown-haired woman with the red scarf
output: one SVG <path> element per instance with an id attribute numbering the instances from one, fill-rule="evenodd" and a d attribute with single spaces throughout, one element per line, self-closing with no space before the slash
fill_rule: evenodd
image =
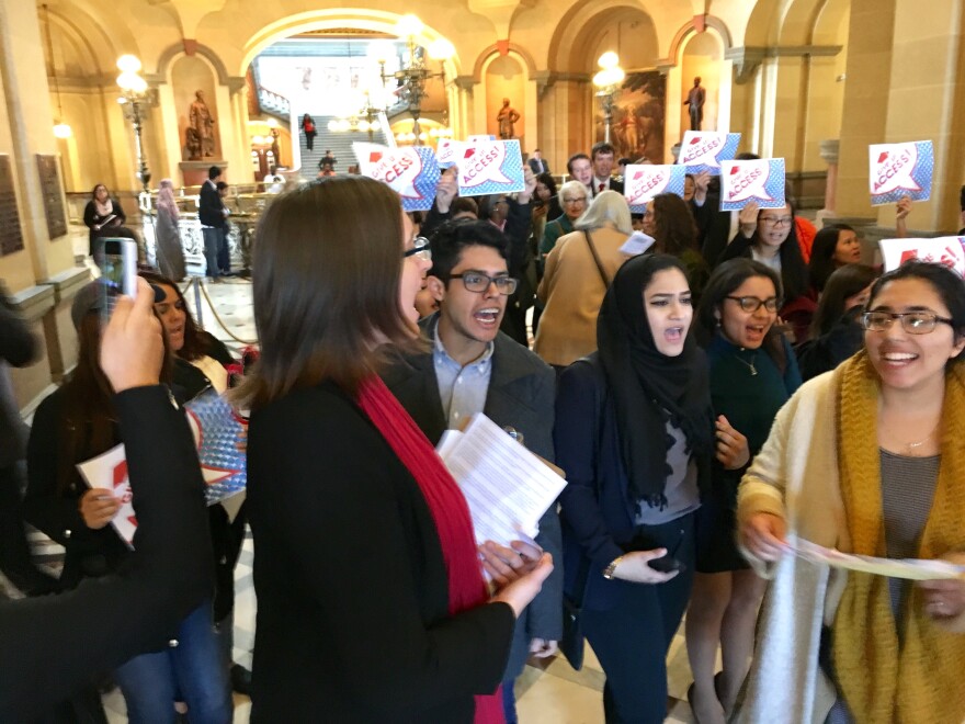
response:
<path id="1" fill-rule="evenodd" d="M 512 638 L 509 606 L 447 613 L 416 480 L 337 385 L 251 416 L 258 626 L 252 722 L 473 721 Z"/>

